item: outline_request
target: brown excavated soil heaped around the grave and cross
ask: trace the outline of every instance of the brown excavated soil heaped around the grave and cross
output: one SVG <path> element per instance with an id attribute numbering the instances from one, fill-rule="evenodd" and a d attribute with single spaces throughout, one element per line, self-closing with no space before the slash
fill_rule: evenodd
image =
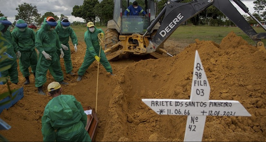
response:
<path id="1" fill-rule="evenodd" d="M 183 141 L 187 116 L 157 115 L 141 99 L 189 99 L 195 50 L 211 87 L 209 99 L 238 100 L 251 114 L 207 116 L 202 141 L 266 141 L 266 53 L 233 32 L 220 44 L 196 39 L 184 49 L 176 46 L 180 46 L 176 41 L 165 43 L 165 49 L 176 54 L 172 58 L 110 62 L 116 76 L 100 65 L 98 91 L 98 63 L 88 68 L 81 82 L 75 81 L 77 75 L 64 74 L 70 85 L 63 86 L 63 94 L 74 95 L 84 107 L 97 108 L 96 141 Z M 77 53 L 71 47 L 73 72 L 77 73 L 85 51 L 84 42 L 79 43 Z M 61 63 L 65 71 L 62 59 Z M 11 125 L 10 130 L 1 131 L 10 141 L 42 141 L 41 117 L 51 97 L 37 94 L 33 75 L 30 81 L 23 85 L 19 72 L 19 85 L 11 87 L 24 87 L 24 98 L 0 115 Z M 48 73 L 46 93 L 52 81 Z M 0 93 L 5 88 L 1 85 Z"/>

